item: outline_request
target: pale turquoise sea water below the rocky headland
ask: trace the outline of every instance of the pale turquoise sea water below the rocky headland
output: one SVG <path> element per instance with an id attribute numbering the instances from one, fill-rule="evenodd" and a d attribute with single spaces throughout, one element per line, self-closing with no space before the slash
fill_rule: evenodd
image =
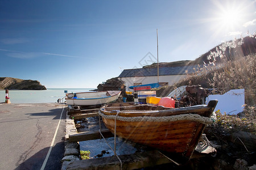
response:
<path id="1" fill-rule="evenodd" d="M 9 90 L 11 103 L 55 103 L 65 96 L 64 90 L 86 92 L 95 88 L 48 88 L 47 90 Z M 5 90 L 0 90 L 0 103 L 5 102 Z"/>

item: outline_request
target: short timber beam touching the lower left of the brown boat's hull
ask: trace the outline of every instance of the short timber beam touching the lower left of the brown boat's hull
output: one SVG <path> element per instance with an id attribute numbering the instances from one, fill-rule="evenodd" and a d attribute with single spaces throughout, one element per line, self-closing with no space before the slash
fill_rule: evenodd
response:
<path id="1" fill-rule="evenodd" d="M 101 129 L 101 133 L 104 138 L 113 137 L 114 135 L 109 131 L 109 129 Z M 89 141 L 94 139 L 100 139 L 100 132 L 97 131 L 85 131 L 81 133 L 76 133 L 69 135 L 69 142 L 80 142 L 80 141 Z"/>

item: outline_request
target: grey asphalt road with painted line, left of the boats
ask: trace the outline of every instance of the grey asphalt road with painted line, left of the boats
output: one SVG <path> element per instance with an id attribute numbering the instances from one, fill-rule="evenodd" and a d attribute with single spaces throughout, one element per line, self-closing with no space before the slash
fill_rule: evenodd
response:
<path id="1" fill-rule="evenodd" d="M 41 169 L 59 122 L 44 169 L 61 169 L 65 116 L 63 104 L 0 103 L 0 169 Z"/>

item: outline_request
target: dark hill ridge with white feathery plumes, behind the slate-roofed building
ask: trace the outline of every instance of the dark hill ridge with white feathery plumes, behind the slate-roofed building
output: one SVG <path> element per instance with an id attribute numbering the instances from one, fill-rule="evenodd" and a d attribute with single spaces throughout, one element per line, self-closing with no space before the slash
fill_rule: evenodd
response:
<path id="1" fill-rule="evenodd" d="M 184 60 L 175 62 L 160 62 L 159 67 L 175 67 L 185 65 L 201 65 L 210 62 L 225 62 L 234 60 L 237 57 L 248 56 L 249 54 L 256 53 L 256 35 L 243 37 L 234 41 L 223 42 L 220 45 L 210 49 L 209 52 L 201 55 L 195 60 Z M 147 68 L 157 67 L 157 63 L 144 66 Z"/>

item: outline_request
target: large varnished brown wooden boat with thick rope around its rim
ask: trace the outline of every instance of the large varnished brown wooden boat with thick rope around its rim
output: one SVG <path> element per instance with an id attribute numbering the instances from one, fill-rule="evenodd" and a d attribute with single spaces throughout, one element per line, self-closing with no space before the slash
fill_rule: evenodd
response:
<path id="1" fill-rule="evenodd" d="M 217 102 L 186 108 L 115 103 L 101 107 L 99 114 L 119 137 L 189 159 L 205 125 L 213 122 L 210 116 Z"/>

